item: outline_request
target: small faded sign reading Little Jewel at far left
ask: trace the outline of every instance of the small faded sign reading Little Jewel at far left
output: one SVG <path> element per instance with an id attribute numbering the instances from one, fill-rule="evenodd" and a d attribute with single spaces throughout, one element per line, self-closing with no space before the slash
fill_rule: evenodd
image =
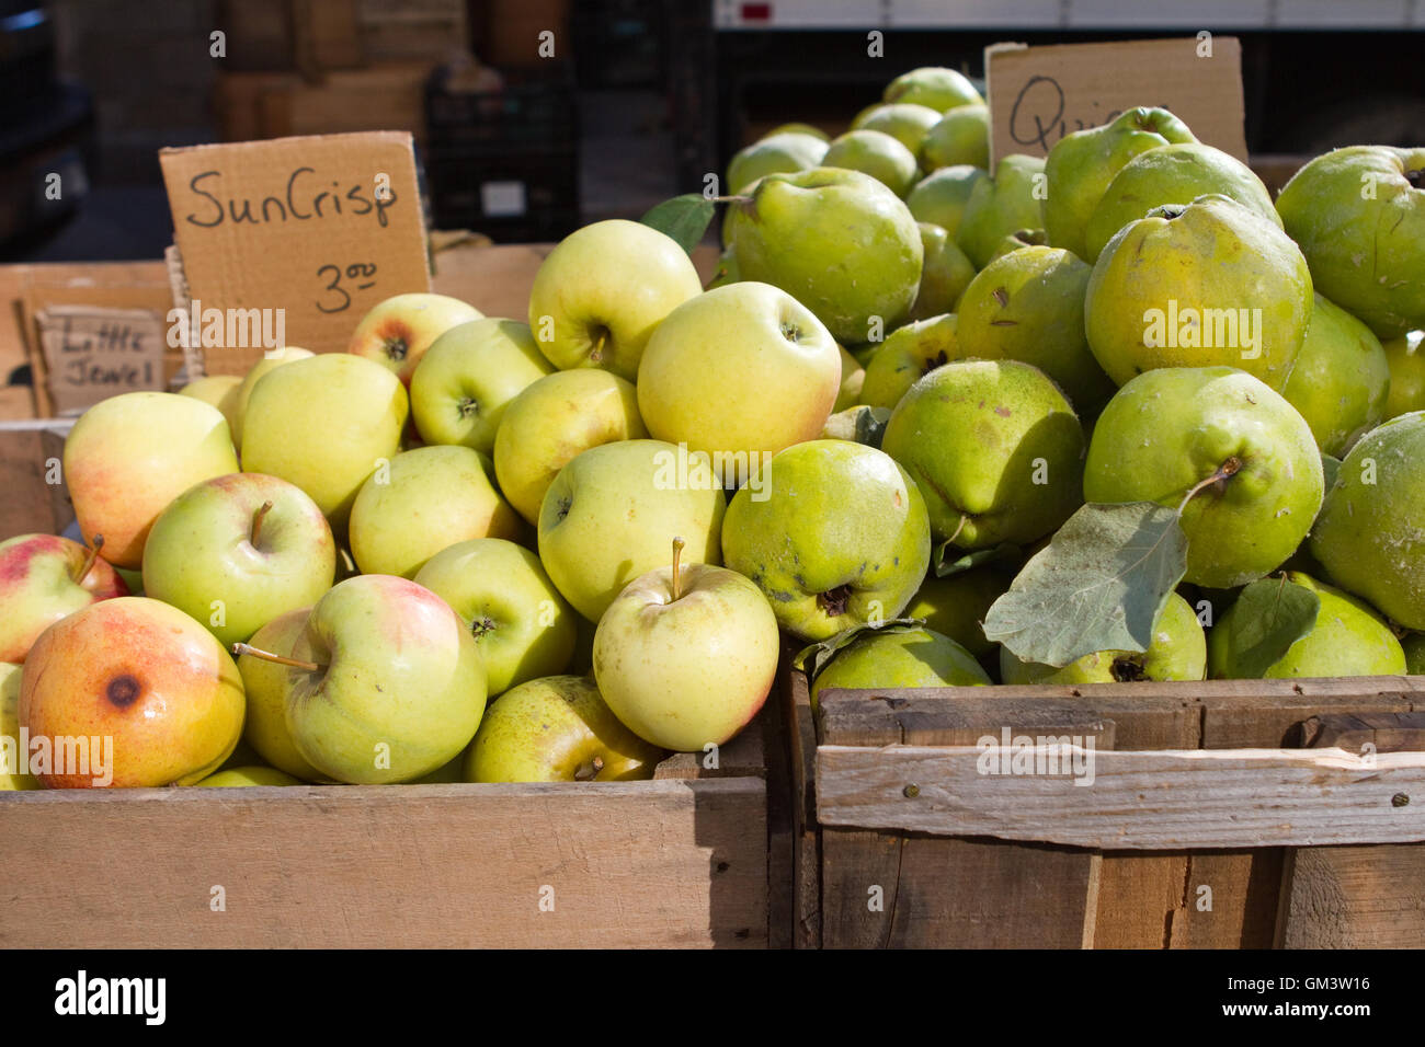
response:
<path id="1" fill-rule="evenodd" d="M 61 305 L 36 315 L 57 415 L 77 415 L 108 396 L 164 389 L 162 313 Z"/>

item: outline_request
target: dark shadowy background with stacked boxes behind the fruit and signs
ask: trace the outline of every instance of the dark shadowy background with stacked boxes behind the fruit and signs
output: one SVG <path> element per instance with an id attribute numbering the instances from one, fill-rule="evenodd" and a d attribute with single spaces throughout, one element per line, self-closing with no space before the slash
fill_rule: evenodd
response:
<path id="1" fill-rule="evenodd" d="M 165 145 L 373 127 L 418 135 L 435 226 L 557 239 L 701 189 L 774 124 L 835 132 L 915 66 L 978 77 L 985 46 L 1005 40 L 1234 34 L 1254 154 L 1425 142 L 1425 33 L 1406 28 L 1425 26 L 1418 0 L 1277 0 L 1270 27 L 1193 26 L 1191 4 L 1149 0 L 1124 4 L 1131 21 L 1070 28 L 995 26 L 989 3 L 960 4 L 979 9 L 972 30 L 862 7 L 855 28 L 807 28 L 808 0 L 0 0 L 0 259 L 158 258 L 172 235 Z M 866 56 L 869 28 L 885 33 L 882 58 Z M 483 87 L 482 70 L 499 70 L 500 93 L 446 90 L 452 61 Z M 58 201 L 44 195 L 56 171 Z M 523 185 L 524 212 L 486 214 L 486 181 Z"/>

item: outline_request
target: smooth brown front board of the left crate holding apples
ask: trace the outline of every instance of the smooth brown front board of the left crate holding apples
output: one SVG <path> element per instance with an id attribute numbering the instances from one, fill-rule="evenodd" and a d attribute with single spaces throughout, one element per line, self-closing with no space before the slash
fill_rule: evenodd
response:
<path id="1" fill-rule="evenodd" d="M 0 946 L 755 947 L 765 799 L 747 778 L 7 793 L 26 875 Z"/>

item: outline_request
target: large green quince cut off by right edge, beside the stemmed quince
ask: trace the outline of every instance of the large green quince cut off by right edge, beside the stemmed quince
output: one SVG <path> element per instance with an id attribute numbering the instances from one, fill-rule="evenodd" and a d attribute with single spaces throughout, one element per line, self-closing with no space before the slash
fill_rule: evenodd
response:
<path id="1" fill-rule="evenodd" d="M 1425 413 L 1362 436 L 1341 462 L 1311 531 L 1331 581 L 1405 628 L 1425 630 Z"/>

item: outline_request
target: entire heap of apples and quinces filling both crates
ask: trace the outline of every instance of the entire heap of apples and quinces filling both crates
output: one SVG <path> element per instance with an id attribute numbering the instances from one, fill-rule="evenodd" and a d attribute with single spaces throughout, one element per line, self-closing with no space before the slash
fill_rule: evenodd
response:
<path id="1" fill-rule="evenodd" d="M 735 736 L 787 638 L 814 695 L 1418 670 L 1425 148 L 1273 201 L 1163 110 L 986 142 L 912 70 L 732 160 L 707 289 L 697 231 L 604 221 L 522 321 L 400 295 L 100 403 L 86 544 L 0 544 L 0 734 L 113 735 L 115 785 L 608 781 Z M 986 618 L 1086 504 L 1174 510 L 1181 584 L 1139 650 L 1020 658 Z M 1318 610 L 1263 665 L 1268 577 Z"/>

